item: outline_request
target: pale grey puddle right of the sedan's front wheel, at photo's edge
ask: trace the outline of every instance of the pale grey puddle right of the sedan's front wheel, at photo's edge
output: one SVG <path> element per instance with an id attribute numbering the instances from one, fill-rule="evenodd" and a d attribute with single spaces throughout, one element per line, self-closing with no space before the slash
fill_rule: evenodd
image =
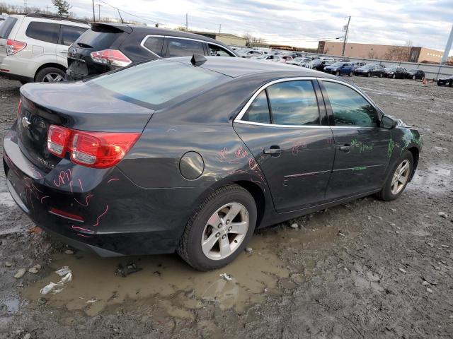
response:
<path id="1" fill-rule="evenodd" d="M 421 189 L 430 193 L 444 193 L 452 189 L 451 166 L 447 164 L 430 165 L 427 171 L 417 169 L 408 189 Z"/>

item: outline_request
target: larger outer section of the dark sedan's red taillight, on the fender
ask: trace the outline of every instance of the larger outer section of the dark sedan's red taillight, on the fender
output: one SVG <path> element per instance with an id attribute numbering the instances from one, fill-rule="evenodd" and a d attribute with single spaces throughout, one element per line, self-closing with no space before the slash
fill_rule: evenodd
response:
<path id="1" fill-rule="evenodd" d="M 96 168 L 116 165 L 134 145 L 140 133 L 74 132 L 71 160 Z"/>

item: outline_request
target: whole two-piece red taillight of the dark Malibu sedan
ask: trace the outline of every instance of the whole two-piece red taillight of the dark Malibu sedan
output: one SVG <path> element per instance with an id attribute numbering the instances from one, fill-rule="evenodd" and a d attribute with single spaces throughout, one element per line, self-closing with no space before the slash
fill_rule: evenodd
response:
<path id="1" fill-rule="evenodd" d="M 47 149 L 58 157 L 71 152 L 71 161 L 88 167 L 116 165 L 139 138 L 140 133 L 86 132 L 51 125 Z"/>

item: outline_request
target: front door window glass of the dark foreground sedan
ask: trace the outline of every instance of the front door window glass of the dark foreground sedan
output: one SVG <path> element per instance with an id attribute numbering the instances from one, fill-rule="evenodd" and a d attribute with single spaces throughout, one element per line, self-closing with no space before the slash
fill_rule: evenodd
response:
<path id="1" fill-rule="evenodd" d="M 377 111 L 365 97 L 340 83 L 323 81 L 323 85 L 331 102 L 336 126 L 379 126 Z"/>

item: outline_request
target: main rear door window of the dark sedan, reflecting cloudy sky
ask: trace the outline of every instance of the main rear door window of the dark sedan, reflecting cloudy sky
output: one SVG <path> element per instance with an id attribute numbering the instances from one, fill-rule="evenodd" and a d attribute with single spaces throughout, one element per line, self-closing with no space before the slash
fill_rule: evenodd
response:
<path id="1" fill-rule="evenodd" d="M 274 124 L 319 125 L 319 109 L 311 81 L 287 81 L 268 88 Z"/>

